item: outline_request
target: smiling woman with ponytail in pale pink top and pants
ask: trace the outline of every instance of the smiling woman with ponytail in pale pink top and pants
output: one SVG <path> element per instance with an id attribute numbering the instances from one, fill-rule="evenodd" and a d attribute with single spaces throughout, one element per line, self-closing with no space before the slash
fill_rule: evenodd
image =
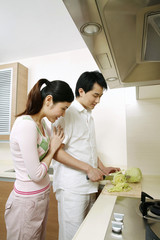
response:
<path id="1" fill-rule="evenodd" d="M 50 137 L 44 117 L 53 123 L 64 116 L 73 99 L 67 83 L 40 79 L 28 95 L 26 110 L 17 116 L 10 134 L 16 180 L 5 209 L 7 240 L 45 239 L 50 192 L 47 171 L 64 135 L 57 127 Z"/>

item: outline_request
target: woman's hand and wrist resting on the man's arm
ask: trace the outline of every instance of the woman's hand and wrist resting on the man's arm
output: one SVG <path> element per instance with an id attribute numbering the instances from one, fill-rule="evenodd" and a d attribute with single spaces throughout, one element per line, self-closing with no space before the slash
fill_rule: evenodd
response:
<path id="1" fill-rule="evenodd" d="M 57 128 L 53 128 L 53 136 L 51 137 L 50 142 L 50 151 L 55 152 L 58 150 L 58 148 L 61 146 L 62 142 L 64 140 L 64 132 L 61 126 L 58 126 Z"/>

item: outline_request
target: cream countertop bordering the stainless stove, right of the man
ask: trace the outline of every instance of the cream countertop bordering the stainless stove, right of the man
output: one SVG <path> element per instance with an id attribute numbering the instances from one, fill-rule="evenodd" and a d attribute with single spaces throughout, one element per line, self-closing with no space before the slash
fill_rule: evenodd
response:
<path id="1" fill-rule="evenodd" d="M 142 191 L 160 199 L 160 176 L 143 176 Z M 100 194 L 73 240 L 103 240 L 116 196 Z"/>

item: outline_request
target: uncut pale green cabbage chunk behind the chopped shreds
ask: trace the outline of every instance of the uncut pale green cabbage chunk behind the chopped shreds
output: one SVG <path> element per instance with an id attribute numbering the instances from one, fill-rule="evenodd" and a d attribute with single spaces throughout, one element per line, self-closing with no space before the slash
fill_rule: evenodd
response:
<path id="1" fill-rule="evenodd" d="M 125 171 L 125 175 L 130 176 L 127 182 L 140 182 L 142 179 L 142 172 L 139 168 L 129 168 Z"/>

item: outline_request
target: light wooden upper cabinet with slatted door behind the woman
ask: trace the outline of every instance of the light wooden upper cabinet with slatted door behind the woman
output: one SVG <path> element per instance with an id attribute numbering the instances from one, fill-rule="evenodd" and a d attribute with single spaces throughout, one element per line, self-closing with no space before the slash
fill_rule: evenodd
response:
<path id="1" fill-rule="evenodd" d="M 20 63 L 0 65 L 0 141 L 8 141 L 16 115 L 27 101 L 28 69 Z"/>

